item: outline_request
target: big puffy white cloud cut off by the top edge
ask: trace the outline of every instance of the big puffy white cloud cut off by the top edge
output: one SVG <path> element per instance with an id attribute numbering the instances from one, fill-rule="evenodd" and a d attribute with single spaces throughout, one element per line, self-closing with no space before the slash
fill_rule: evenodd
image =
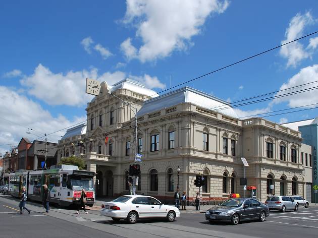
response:
<path id="1" fill-rule="evenodd" d="M 229 6 L 227 0 L 127 0 L 123 22 L 132 24 L 142 40 L 139 49 L 127 38 L 121 49 L 128 59 L 141 62 L 169 56 L 174 50 L 191 46 L 191 38 L 213 13 L 221 14 Z"/>

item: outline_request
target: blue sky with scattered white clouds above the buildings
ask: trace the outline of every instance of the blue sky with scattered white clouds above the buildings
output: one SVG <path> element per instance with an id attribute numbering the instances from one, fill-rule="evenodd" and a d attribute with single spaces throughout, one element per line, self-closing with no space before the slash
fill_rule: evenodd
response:
<path id="1" fill-rule="evenodd" d="M 189 86 L 229 103 L 270 93 L 235 107 L 239 117 L 290 109 L 265 118 L 314 118 L 318 34 L 178 85 L 315 31 L 314 0 L 2 1 L 0 154 L 85 121 L 86 77 L 110 85 L 128 77 L 160 95 Z"/>

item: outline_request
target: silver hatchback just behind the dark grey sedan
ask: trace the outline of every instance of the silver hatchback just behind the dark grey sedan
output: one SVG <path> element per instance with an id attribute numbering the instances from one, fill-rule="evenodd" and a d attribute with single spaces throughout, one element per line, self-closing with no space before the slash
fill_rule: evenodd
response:
<path id="1" fill-rule="evenodd" d="M 282 212 L 286 210 L 298 211 L 297 202 L 287 196 L 270 196 L 267 198 L 265 204 L 270 210 L 280 210 Z"/>

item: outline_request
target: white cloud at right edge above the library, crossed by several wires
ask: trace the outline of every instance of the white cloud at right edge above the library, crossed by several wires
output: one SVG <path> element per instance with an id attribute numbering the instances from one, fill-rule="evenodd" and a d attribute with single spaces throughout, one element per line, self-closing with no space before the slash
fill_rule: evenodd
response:
<path id="1" fill-rule="evenodd" d="M 316 81 L 317 79 L 318 79 L 318 65 L 308 66 L 306 68 L 301 69 L 299 73 L 291 77 L 287 83 L 284 83 L 280 87 L 280 90 L 294 87 L 301 84 L 305 84 L 305 83 L 309 83 L 309 82 L 313 82 L 313 81 Z M 307 89 L 311 87 L 317 87 L 317 86 L 318 86 L 317 82 L 311 83 L 301 87 L 279 92 L 276 94 L 276 96 L 290 93 L 290 92 L 296 92 L 298 90 L 303 90 L 303 89 Z M 303 92 L 299 94 L 276 98 L 273 100 L 273 103 L 276 103 L 276 104 L 281 102 L 288 102 L 288 105 L 290 107 L 309 105 L 309 104 L 318 102 L 318 93 L 317 93 L 317 90 L 311 90 L 311 91 L 307 91 L 307 92 Z"/>

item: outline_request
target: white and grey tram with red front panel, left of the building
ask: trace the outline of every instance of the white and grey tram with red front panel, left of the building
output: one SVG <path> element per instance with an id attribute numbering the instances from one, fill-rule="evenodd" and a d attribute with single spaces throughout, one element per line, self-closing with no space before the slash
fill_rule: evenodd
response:
<path id="1" fill-rule="evenodd" d="M 94 172 L 79 170 L 74 165 L 54 165 L 47 170 L 18 170 L 9 173 L 9 195 L 21 197 L 22 187 L 28 193 L 28 199 L 42 201 L 43 185 L 50 190 L 52 203 L 61 206 L 79 204 L 81 190 L 85 189 L 88 206 L 95 202 Z"/>

